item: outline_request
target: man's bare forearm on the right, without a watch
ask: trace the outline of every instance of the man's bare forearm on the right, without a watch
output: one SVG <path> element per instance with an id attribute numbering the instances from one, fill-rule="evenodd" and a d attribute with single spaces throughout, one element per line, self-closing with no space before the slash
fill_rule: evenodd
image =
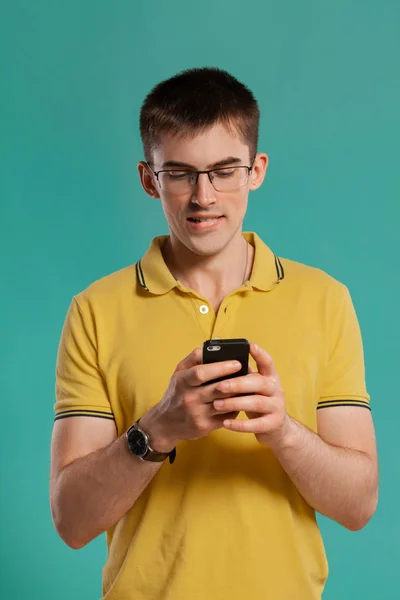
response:
<path id="1" fill-rule="evenodd" d="M 378 467 L 368 455 L 332 446 L 294 419 L 285 440 L 273 451 L 315 510 L 351 530 L 361 529 L 371 518 L 378 497 Z"/>

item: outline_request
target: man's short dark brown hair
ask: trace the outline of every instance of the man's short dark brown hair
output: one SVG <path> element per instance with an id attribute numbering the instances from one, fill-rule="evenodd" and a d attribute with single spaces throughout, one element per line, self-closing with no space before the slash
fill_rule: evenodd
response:
<path id="1" fill-rule="evenodd" d="M 140 135 L 146 160 L 167 133 L 196 135 L 223 123 L 234 127 L 257 153 L 260 111 L 253 93 L 221 69 L 189 69 L 157 84 L 146 96 L 140 111 Z"/>

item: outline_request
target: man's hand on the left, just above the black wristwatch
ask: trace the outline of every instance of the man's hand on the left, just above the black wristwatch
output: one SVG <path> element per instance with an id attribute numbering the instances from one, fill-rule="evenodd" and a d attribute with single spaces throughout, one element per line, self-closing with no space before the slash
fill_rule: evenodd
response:
<path id="1" fill-rule="evenodd" d="M 158 404 L 140 419 L 140 426 L 148 433 L 151 446 L 158 452 L 169 452 L 180 440 L 205 437 L 221 428 L 226 418 L 235 419 L 239 411 L 221 414 L 213 401 L 224 398 L 217 383 L 207 381 L 239 371 L 239 361 L 202 364 L 202 349 L 196 348 L 182 360 L 173 373 L 168 388 Z"/>

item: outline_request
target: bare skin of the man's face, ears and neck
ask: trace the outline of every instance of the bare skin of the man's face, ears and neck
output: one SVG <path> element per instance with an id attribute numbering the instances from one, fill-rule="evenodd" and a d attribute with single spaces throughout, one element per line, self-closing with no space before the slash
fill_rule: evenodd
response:
<path id="1" fill-rule="evenodd" d="M 235 131 L 217 124 L 194 138 L 165 136 L 154 150 L 152 167 L 158 171 L 165 168 L 166 162 L 174 161 L 202 171 L 218 166 L 229 157 L 240 159 L 232 165 L 251 166 L 247 144 Z M 170 240 L 163 254 L 169 269 L 182 283 L 204 295 L 215 312 L 224 297 L 242 283 L 246 252 L 249 252 L 246 276 L 251 273 L 253 248 L 246 248 L 242 223 L 249 192 L 261 186 L 267 167 L 268 156 L 260 152 L 246 186 L 234 192 L 216 192 L 203 174 L 191 194 L 173 196 L 160 189 L 145 162 L 138 165 L 144 190 L 152 198 L 160 199 L 168 222 Z M 193 233 L 189 229 L 188 216 L 213 214 L 224 215 L 218 230 Z"/>

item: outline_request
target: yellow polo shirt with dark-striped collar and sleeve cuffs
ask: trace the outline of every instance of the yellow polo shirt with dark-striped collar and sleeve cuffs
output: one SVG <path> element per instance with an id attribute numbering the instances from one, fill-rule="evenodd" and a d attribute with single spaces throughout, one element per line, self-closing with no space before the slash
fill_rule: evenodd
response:
<path id="1" fill-rule="evenodd" d="M 166 236 L 78 294 L 59 347 L 56 419 L 114 419 L 123 434 L 160 401 L 177 363 L 215 337 L 265 348 L 288 413 L 313 431 L 318 409 L 369 408 L 347 288 L 243 235 L 252 275 L 217 315 L 168 270 Z M 319 600 L 328 574 L 315 511 L 272 451 L 224 429 L 179 443 L 107 544 L 107 600 Z"/>

